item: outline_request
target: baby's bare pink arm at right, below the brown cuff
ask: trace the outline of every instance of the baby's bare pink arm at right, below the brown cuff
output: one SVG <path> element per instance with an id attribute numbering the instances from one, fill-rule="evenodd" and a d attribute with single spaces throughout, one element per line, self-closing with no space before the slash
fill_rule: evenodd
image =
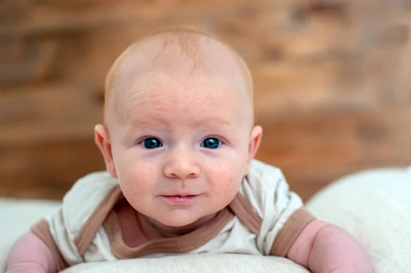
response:
<path id="1" fill-rule="evenodd" d="M 301 231 L 287 257 L 314 273 L 373 272 L 360 242 L 338 226 L 319 220 Z"/>

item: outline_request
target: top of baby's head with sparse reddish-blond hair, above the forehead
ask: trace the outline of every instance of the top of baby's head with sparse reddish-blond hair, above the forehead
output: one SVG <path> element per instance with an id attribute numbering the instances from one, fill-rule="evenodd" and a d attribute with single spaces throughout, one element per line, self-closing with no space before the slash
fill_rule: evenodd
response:
<path id="1" fill-rule="evenodd" d="M 252 116 L 253 84 L 242 60 L 227 44 L 197 29 L 169 29 L 138 40 L 110 68 L 105 79 L 105 120 L 127 114 L 131 98 L 150 92 L 158 78 L 174 83 L 214 82 L 228 86 Z M 249 112 L 247 111 L 247 112 Z"/>

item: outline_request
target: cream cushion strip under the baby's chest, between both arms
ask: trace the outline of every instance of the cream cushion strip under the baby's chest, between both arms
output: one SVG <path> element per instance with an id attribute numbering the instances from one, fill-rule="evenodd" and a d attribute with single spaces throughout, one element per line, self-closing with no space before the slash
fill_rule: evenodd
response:
<path id="1" fill-rule="evenodd" d="M 112 272 L 271 272 L 308 273 L 292 261 L 279 257 L 257 255 L 180 255 L 162 258 L 139 258 L 102 263 L 83 263 L 63 270 L 64 273 L 112 273 Z"/>

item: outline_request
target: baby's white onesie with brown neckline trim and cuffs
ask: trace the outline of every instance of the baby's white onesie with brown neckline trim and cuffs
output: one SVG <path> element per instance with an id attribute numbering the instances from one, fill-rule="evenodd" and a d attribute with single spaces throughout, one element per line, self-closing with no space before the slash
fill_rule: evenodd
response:
<path id="1" fill-rule="evenodd" d="M 32 231 L 49 246 L 58 269 L 85 261 L 162 257 L 181 253 L 243 253 L 285 257 L 314 216 L 290 192 L 279 168 L 253 160 L 236 198 L 195 231 L 165 237 L 136 212 L 138 246 L 127 246 L 114 207 L 128 205 L 108 172 L 79 179 L 62 205 Z"/>

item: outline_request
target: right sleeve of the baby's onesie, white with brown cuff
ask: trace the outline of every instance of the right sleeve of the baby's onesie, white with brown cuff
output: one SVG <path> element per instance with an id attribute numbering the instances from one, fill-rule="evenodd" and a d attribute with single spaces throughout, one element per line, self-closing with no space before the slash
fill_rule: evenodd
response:
<path id="1" fill-rule="evenodd" d="M 264 255 L 285 257 L 301 231 L 314 220 L 301 198 L 290 192 L 279 168 L 255 161 L 247 175 L 253 207 L 262 218 L 258 248 Z"/>

